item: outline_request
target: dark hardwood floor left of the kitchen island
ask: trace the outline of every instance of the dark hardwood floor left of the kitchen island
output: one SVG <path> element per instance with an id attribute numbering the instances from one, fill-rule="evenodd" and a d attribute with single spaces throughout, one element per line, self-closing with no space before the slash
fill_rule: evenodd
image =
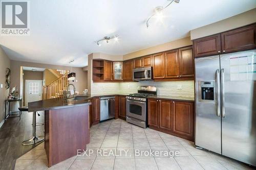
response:
<path id="1" fill-rule="evenodd" d="M 45 122 L 44 112 L 39 112 L 36 122 Z M 22 142 L 32 136 L 32 112 L 23 112 L 21 119 L 10 118 L 0 128 L 0 169 L 14 169 L 18 157 L 39 143 L 23 146 Z M 36 127 L 37 136 L 44 135 L 44 126 Z"/>

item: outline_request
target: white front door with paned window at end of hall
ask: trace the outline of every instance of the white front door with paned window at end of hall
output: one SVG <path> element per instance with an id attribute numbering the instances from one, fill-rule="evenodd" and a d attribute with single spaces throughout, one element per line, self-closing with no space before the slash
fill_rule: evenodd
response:
<path id="1" fill-rule="evenodd" d="M 42 81 L 26 80 L 26 106 L 29 102 L 40 101 L 42 99 Z"/>

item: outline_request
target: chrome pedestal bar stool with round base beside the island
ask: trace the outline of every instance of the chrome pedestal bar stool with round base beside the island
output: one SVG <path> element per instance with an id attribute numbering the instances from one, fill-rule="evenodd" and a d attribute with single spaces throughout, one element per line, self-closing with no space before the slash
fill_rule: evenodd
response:
<path id="1" fill-rule="evenodd" d="M 19 111 L 28 111 L 28 108 L 26 108 L 26 107 L 18 108 L 18 109 L 19 109 Z M 36 112 L 33 112 L 32 127 L 33 127 L 32 137 L 30 137 L 28 140 L 24 140 L 22 142 L 22 145 L 32 145 L 32 144 L 35 144 L 35 143 L 45 140 L 44 136 L 36 136 Z"/>

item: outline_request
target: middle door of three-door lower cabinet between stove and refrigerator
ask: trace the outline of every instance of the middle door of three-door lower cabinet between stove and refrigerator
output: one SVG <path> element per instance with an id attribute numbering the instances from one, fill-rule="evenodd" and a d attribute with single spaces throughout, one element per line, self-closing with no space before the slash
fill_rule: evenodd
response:
<path id="1" fill-rule="evenodd" d="M 173 126 L 173 101 L 159 100 L 160 128 L 172 130 Z"/>

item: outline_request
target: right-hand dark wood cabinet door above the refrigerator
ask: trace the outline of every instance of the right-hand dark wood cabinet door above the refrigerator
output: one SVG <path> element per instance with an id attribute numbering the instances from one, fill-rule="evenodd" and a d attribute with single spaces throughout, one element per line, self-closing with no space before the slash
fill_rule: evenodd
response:
<path id="1" fill-rule="evenodd" d="M 222 53 L 256 48 L 256 24 L 221 33 Z"/>

